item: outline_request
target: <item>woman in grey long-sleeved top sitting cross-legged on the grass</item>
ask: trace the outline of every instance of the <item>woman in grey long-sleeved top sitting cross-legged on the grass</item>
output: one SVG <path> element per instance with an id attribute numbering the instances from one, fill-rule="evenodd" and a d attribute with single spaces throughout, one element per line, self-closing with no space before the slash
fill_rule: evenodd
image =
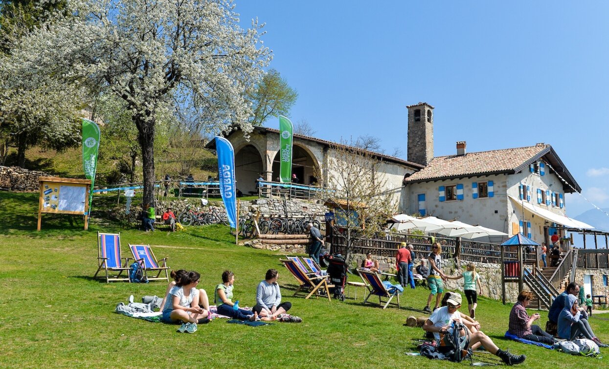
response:
<path id="1" fill-rule="evenodd" d="M 259 317 L 268 317 L 270 320 L 275 320 L 281 314 L 292 308 L 292 304 L 281 302 L 281 291 L 277 279 L 279 273 L 275 269 L 267 270 L 264 281 L 258 284 L 256 289 L 256 305 L 252 311 L 258 313 Z M 301 318 L 288 317 L 283 322 L 302 322 Z"/>

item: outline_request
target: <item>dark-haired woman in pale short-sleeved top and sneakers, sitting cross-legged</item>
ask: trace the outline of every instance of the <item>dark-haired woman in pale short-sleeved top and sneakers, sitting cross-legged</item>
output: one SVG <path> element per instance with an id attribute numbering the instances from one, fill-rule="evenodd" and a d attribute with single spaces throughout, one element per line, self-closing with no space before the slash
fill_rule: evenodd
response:
<path id="1" fill-rule="evenodd" d="M 197 323 L 206 323 L 208 312 L 199 307 L 199 290 L 197 284 L 201 275 L 197 272 L 182 273 L 180 280 L 169 290 L 163 307 L 161 321 L 165 323 L 183 323 L 178 332 L 194 333 Z"/>

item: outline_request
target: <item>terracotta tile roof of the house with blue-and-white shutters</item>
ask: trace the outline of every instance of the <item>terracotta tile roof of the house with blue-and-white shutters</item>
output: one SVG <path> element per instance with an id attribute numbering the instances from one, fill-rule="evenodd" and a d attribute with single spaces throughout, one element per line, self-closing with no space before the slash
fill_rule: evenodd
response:
<path id="1" fill-rule="evenodd" d="M 462 177 L 477 174 L 514 172 L 524 164 L 550 152 L 551 146 L 537 144 L 515 149 L 470 152 L 434 158 L 428 166 L 410 175 L 405 182 L 418 182 L 439 178 Z"/>

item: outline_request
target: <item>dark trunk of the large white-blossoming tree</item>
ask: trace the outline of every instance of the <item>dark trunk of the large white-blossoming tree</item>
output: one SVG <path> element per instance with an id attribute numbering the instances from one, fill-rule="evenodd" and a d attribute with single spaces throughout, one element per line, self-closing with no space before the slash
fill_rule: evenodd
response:
<path id="1" fill-rule="evenodd" d="M 148 114 L 150 116 L 151 114 Z M 154 126 L 153 118 L 148 120 L 143 117 L 133 118 L 135 125 L 138 127 L 138 141 L 142 149 L 142 172 L 144 175 L 144 197 L 142 202 L 144 205 L 149 204 L 154 206 Z"/>

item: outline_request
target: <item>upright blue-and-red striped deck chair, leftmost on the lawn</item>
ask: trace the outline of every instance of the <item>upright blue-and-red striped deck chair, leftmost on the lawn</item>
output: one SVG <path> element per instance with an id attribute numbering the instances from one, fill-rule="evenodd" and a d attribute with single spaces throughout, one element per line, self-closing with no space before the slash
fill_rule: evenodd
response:
<path id="1" fill-rule="evenodd" d="M 122 259 L 125 259 L 125 264 L 121 264 Z M 106 273 L 106 283 L 114 281 L 130 281 L 128 259 L 121 258 L 121 234 L 120 233 L 99 233 L 97 232 L 97 272 L 93 278 L 96 278 L 102 268 Z M 110 272 L 110 273 L 108 273 Z M 115 274 L 116 275 L 110 275 Z M 121 277 L 122 272 L 125 276 Z"/>

